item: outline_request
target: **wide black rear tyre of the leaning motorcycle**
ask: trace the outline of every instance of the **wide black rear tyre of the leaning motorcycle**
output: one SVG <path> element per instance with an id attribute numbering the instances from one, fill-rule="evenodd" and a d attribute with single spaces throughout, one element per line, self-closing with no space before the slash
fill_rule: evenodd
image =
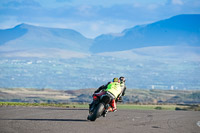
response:
<path id="1" fill-rule="evenodd" d="M 104 104 L 99 103 L 99 105 L 94 110 L 93 114 L 89 115 L 87 119 L 90 120 L 90 121 L 95 121 L 98 117 L 101 116 L 103 111 L 104 111 Z"/>

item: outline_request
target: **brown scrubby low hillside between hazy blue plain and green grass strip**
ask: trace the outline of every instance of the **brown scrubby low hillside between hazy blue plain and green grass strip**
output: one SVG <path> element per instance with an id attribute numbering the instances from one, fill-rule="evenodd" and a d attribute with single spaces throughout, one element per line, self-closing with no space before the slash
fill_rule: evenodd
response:
<path id="1" fill-rule="evenodd" d="M 94 90 L 96 89 L 59 91 L 52 89 L 0 88 L 0 102 L 90 103 Z M 123 102 L 200 104 L 200 91 L 128 89 L 123 97 Z"/>

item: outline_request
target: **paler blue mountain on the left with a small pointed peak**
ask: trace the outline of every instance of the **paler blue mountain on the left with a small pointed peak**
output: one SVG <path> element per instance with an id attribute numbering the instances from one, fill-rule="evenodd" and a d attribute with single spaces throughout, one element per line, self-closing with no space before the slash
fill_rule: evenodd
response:
<path id="1" fill-rule="evenodd" d="M 0 36 L 0 53 L 6 56 L 76 56 L 81 55 L 79 53 L 88 53 L 92 41 L 71 29 L 45 28 L 28 24 L 0 30 Z"/>

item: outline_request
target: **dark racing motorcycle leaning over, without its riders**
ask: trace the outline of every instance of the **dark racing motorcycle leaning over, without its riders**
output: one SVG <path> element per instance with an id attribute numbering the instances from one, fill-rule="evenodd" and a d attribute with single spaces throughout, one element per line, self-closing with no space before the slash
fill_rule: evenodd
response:
<path id="1" fill-rule="evenodd" d="M 105 117 L 110 108 L 109 103 L 114 98 L 114 95 L 107 91 L 93 94 L 93 102 L 89 105 L 89 115 L 87 119 L 95 121 L 101 116 Z"/>

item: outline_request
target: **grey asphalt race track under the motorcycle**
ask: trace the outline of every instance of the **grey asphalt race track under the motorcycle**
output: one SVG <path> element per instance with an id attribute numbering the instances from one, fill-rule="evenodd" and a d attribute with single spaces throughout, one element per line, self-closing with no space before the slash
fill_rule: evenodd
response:
<path id="1" fill-rule="evenodd" d="M 118 110 L 95 122 L 87 109 L 0 107 L 0 133 L 200 133 L 200 112 Z"/>

